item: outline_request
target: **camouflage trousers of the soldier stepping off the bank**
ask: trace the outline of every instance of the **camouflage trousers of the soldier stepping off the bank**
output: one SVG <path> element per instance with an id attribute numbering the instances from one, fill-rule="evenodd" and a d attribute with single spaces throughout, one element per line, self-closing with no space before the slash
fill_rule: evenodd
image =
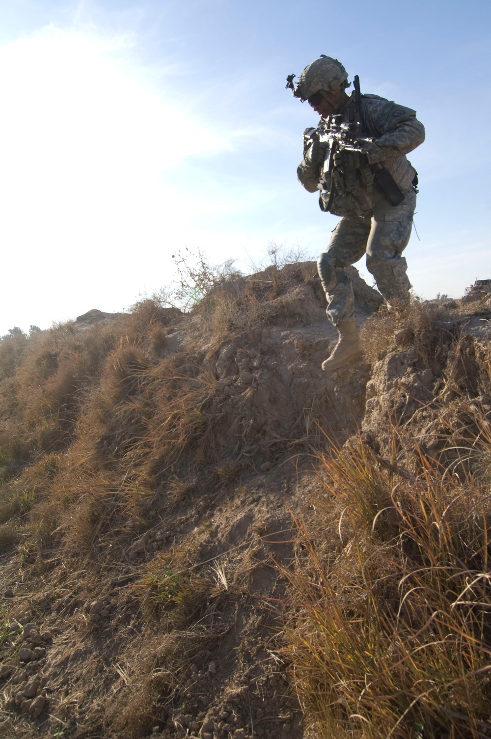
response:
<path id="1" fill-rule="evenodd" d="M 416 192 L 409 188 L 399 205 L 390 205 L 382 193 L 374 194 L 372 217 L 342 218 L 328 249 L 319 256 L 317 269 L 328 300 L 326 313 L 336 326 L 353 318 L 354 296 L 345 267 L 367 254 L 367 269 L 387 302 L 409 301 L 411 284 L 402 256 L 409 242 L 416 208 Z"/>

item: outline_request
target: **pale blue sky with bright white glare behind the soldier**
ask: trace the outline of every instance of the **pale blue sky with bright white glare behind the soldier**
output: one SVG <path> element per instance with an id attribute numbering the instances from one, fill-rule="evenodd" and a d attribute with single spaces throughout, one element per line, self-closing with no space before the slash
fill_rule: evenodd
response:
<path id="1" fill-rule="evenodd" d="M 415 292 L 491 277 L 490 9 L 2 0 L 0 335 L 123 310 L 169 282 L 186 245 L 240 268 L 270 241 L 316 259 L 338 219 L 297 183 L 316 115 L 285 77 L 321 53 L 426 126 L 410 154 Z"/>

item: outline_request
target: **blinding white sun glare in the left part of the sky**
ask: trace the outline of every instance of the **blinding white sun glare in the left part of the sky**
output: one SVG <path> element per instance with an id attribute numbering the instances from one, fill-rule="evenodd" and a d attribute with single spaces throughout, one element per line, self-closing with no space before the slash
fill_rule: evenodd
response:
<path id="1" fill-rule="evenodd" d="M 53 27 L 0 47 L 3 266 L 21 270 L 35 302 L 34 312 L 18 285 L 4 285 L 0 335 L 6 313 L 25 327 L 121 309 L 149 271 L 168 273 L 165 244 L 189 208 L 172 171 L 230 147 L 167 103 L 131 53 L 128 38 Z"/>

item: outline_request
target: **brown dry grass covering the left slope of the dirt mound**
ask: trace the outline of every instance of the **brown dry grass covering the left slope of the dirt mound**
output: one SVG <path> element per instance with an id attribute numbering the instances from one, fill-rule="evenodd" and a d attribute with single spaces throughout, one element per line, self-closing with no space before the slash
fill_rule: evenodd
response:
<path id="1" fill-rule="evenodd" d="M 185 352 L 158 358 L 181 319 L 146 300 L 110 324 L 22 339 L 22 361 L 0 386 L 0 473 L 12 480 L 0 520 L 24 527 L 36 551 L 64 541 L 82 558 L 116 557 L 135 525 L 190 494 L 203 466 L 216 462 L 222 482 L 242 469 L 222 462 L 213 372 Z"/>

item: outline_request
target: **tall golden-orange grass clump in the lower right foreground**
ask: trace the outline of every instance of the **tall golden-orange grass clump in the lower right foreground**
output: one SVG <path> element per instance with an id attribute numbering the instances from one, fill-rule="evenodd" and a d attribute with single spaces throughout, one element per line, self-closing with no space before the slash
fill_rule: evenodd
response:
<path id="1" fill-rule="evenodd" d="M 490 452 L 486 429 L 473 454 Z M 399 469 L 361 442 L 320 460 L 312 531 L 324 533 L 297 522 L 307 555 L 283 571 L 284 652 L 317 735 L 488 736 L 489 482 L 409 440 Z"/>

